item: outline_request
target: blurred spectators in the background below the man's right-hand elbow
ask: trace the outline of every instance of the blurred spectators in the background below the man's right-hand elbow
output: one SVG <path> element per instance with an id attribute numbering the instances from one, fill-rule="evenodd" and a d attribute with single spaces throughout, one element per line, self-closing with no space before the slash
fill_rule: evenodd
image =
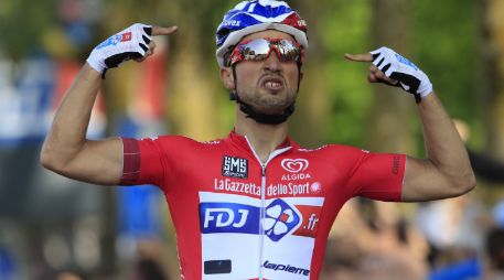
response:
<path id="1" fill-rule="evenodd" d="M 468 141 L 469 127 L 454 123 Z M 415 206 L 347 203 L 330 236 L 322 279 L 504 279 L 504 163 L 469 153 L 481 182 L 472 193 Z M 493 202 L 484 197 L 490 187 Z"/>

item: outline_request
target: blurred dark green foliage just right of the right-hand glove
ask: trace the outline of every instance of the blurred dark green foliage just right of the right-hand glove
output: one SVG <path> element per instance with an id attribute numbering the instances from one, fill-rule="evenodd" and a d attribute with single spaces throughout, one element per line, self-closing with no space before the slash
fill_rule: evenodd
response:
<path id="1" fill-rule="evenodd" d="M 453 117 L 478 117 L 476 2 L 414 1 L 414 52 Z"/>

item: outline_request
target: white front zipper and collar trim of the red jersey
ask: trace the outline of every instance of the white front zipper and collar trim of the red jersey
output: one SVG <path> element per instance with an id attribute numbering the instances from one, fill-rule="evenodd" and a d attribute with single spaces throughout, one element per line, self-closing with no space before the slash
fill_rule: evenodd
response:
<path id="1" fill-rule="evenodd" d="M 258 280 L 264 280 L 262 279 L 262 252 L 264 252 L 264 243 L 265 243 L 265 234 L 262 230 L 262 220 L 265 219 L 266 213 L 266 166 L 268 163 L 277 155 L 287 152 L 288 150 L 291 149 L 291 147 L 282 148 L 275 150 L 269 154 L 268 160 L 266 162 L 262 162 L 259 158 L 259 155 L 256 153 L 254 150 L 254 147 L 250 144 L 250 141 L 248 141 L 248 138 L 245 137 L 247 140 L 248 147 L 250 148 L 250 151 L 254 153 L 254 157 L 256 157 L 256 160 L 259 162 L 261 166 L 261 180 L 260 180 L 260 219 L 259 219 L 259 270 L 258 270 Z"/>

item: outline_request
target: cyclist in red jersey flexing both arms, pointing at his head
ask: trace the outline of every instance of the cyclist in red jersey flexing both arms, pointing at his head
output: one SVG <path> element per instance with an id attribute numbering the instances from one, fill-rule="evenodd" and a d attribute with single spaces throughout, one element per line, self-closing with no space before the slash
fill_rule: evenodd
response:
<path id="1" fill-rule="evenodd" d="M 99 44 L 60 107 L 41 161 L 89 183 L 158 185 L 183 279 L 318 279 L 331 225 L 351 197 L 420 202 L 474 187 L 464 146 L 427 75 L 387 47 L 345 56 L 372 64 L 369 82 L 415 96 L 428 159 L 292 141 L 287 119 L 308 39 L 304 21 L 282 1 L 240 2 L 217 29 L 221 78 L 237 104 L 228 137 L 87 140 L 100 76 L 125 60 L 144 60 L 152 35 L 175 30 L 133 24 Z"/>

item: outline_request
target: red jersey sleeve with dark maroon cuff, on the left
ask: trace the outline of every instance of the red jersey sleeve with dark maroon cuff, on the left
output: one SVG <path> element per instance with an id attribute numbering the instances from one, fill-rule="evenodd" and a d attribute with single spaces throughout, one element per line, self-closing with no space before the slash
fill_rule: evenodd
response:
<path id="1" fill-rule="evenodd" d="M 162 153 L 152 139 L 122 138 L 122 176 L 121 185 L 160 185 L 164 172 Z"/>

